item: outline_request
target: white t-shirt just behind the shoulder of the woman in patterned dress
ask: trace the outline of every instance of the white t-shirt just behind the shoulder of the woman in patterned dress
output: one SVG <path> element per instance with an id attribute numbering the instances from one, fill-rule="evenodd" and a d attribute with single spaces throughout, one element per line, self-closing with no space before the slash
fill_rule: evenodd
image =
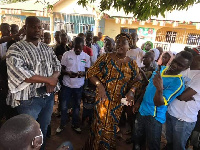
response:
<path id="1" fill-rule="evenodd" d="M 126 56 L 128 56 L 132 60 L 136 61 L 138 67 L 142 67 L 142 58 L 143 58 L 144 55 L 145 55 L 145 52 L 140 48 L 130 49 L 126 53 Z"/>

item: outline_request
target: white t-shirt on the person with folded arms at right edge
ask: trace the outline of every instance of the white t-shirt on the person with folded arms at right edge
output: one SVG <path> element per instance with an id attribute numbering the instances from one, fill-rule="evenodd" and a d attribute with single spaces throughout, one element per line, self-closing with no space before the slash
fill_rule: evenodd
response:
<path id="1" fill-rule="evenodd" d="M 182 73 L 186 88 L 190 87 L 197 93 L 193 96 L 195 100 L 188 102 L 175 99 L 168 107 L 168 113 L 179 120 L 196 122 L 200 110 L 200 70 L 186 70 Z"/>

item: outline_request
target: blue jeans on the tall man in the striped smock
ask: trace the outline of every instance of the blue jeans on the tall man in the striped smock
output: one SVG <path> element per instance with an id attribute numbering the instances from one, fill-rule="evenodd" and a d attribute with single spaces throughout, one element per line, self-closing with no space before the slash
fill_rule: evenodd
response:
<path id="1" fill-rule="evenodd" d="M 44 144 L 41 150 L 45 147 L 47 127 L 51 122 L 51 115 L 53 112 L 54 94 L 50 96 L 34 97 L 30 100 L 20 101 L 20 105 L 17 107 L 19 114 L 28 114 L 32 116 L 40 124 L 44 136 Z"/>

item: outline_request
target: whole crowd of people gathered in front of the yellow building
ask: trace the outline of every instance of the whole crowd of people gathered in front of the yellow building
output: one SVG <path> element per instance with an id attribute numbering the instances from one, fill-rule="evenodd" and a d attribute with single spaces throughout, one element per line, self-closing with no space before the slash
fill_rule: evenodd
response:
<path id="1" fill-rule="evenodd" d="M 20 30 L 2 23 L 0 31 L 0 120 L 7 120 L 1 122 L 1 148 L 44 150 L 55 95 L 57 133 L 65 130 L 69 113 L 78 134 L 88 121 L 83 150 L 116 149 L 126 122 L 133 150 L 160 150 L 161 136 L 166 150 L 185 150 L 187 143 L 200 148 L 200 47 L 175 55 L 150 41 L 137 47 L 137 33 L 114 40 L 87 31 L 71 39 L 64 30 L 55 32 L 51 45 L 34 16 Z M 58 148 L 65 149 L 73 150 L 72 144 Z"/>

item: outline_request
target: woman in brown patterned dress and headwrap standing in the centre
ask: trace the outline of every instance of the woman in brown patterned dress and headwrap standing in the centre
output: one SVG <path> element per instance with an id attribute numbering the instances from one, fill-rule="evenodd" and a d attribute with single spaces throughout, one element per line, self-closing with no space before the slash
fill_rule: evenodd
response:
<path id="1" fill-rule="evenodd" d="M 116 37 L 116 52 L 102 55 L 88 70 L 87 78 L 96 85 L 94 122 L 84 149 L 116 149 L 117 125 L 122 112 L 121 99 L 132 104 L 135 89 L 140 85 L 139 68 L 126 56 L 131 37 L 121 33 Z"/>

